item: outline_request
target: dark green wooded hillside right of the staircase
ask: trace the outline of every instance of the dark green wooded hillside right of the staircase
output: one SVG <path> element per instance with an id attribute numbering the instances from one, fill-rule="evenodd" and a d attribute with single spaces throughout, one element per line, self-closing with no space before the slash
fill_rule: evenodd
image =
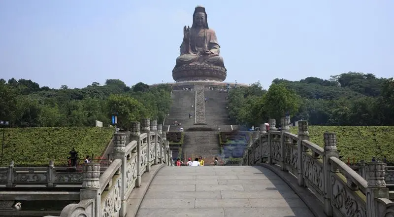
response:
<path id="1" fill-rule="evenodd" d="M 348 72 L 324 80 L 307 77 L 300 81 L 275 79 L 268 91 L 260 83 L 232 89 L 230 116 L 242 125 L 258 125 L 268 117 L 279 120 L 289 112 L 292 121 L 310 125 L 394 125 L 393 78 Z"/>

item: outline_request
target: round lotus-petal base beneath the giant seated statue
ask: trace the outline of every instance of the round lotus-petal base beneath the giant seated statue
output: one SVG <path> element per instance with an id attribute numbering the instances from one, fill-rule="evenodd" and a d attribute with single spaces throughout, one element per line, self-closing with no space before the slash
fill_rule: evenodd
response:
<path id="1" fill-rule="evenodd" d="M 227 77 L 227 70 L 224 67 L 207 64 L 183 65 L 172 70 L 172 78 L 179 81 L 224 81 Z"/>

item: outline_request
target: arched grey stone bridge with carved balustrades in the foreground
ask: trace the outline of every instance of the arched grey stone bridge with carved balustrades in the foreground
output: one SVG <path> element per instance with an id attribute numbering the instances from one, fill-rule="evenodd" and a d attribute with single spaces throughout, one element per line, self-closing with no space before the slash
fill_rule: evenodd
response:
<path id="1" fill-rule="evenodd" d="M 245 152 L 244 166 L 204 167 L 173 167 L 168 142 L 157 122 L 133 122 L 129 144 L 125 134 L 114 135 L 114 160 L 105 170 L 99 163 L 83 165 L 79 192 L 46 195 L 73 197 L 77 202 L 57 215 L 41 216 L 394 216 L 394 192 L 389 191 L 393 173 L 384 163 L 350 168 L 338 159 L 334 133 L 324 134 L 322 148 L 308 141 L 306 121 L 299 122 L 298 135 L 289 133 L 289 122 L 282 118 L 281 131 L 272 127 L 265 132 L 262 127 L 256 132 Z M 9 175 L 18 174 L 15 171 L 20 170 L 8 168 L 7 181 L 0 184 L 21 184 Z M 24 171 L 24 177 L 32 177 L 30 185 L 59 185 L 52 175 L 33 180 L 33 176 L 40 177 L 37 174 Z M 0 205 L 7 201 L 12 205 L 18 197 L 22 197 L 18 192 L 0 192 Z M 23 203 L 21 211 L 9 212 L 15 215 L 8 216 L 27 216 Z"/>

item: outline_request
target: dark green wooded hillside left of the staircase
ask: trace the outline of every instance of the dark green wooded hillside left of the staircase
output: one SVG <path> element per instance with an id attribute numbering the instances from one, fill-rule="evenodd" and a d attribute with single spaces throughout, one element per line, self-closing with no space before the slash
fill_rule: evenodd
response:
<path id="1" fill-rule="evenodd" d="M 40 87 L 32 80 L 0 79 L 0 120 L 11 127 L 95 126 L 95 120 L 109 124 L 117 112 L 118 126 L 128 128 L 141 117 L 164 120 L 171 106 L 171 87 L 131 87 L 119 79 L 104 85 L 93 82 L 85 88 Z"/>

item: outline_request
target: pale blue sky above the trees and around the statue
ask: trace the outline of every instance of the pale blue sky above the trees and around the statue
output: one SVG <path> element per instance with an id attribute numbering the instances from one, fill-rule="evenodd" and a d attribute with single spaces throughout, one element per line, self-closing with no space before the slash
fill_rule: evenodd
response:
<path id="1" fill-rule="evenodd" d="M 198 4 L 228 82 L 394 75 L 393 0 L 2 0 L 0 77 L 52 88 L 172 82 Z"/>

